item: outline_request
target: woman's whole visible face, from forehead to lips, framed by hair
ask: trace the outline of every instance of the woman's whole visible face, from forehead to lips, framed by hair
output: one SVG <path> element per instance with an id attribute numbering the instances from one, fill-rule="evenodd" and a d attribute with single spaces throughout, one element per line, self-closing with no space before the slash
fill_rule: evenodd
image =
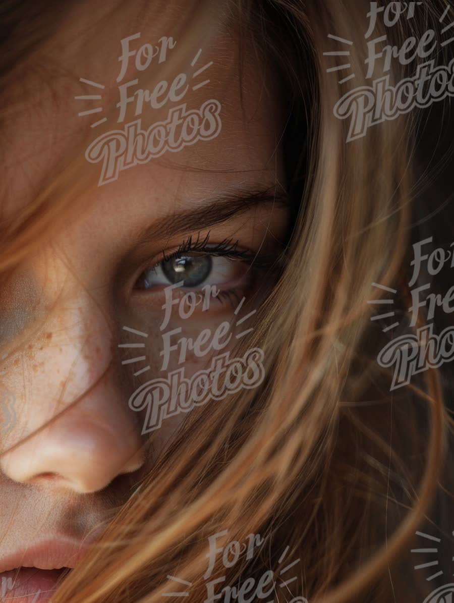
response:
<path id="1" fill-rule="evenodd" d="M 185 30 L 192 7 L 184 4 L 157 3 L 139 15 L 137 3 L 128 2 L 109 18 L 106 3 L 104 12 L 93 11 L 93 3 L 78 4 L 36 55 L 27 78 L 11 90 L 14 112 L 5 124 L 8 215 L 24 210 L 45 178 L 58 175 L 61 157 L 80 144 L 84 151 L 102 131 L 124 130 L 138 119 L 134 92 L 141 81 L 123 90 L 132 100 L 122 122 L 121 107 L 115 107 L 119 84 L 137 76 L 148 77 L 150 93 L 163 66 L 169 86 L 181 73 L 191 84 L 179 98 L 185 86 L 177 81 L 175 101 L 171 96 L 165 103 L 166 94 L 155 90 L 159 108 L 143 93 L 142 130 L 165 122 L 183 103 L 188 112 L 210 100 L 221 107 L 221 127 L 211 139 L 203 133 L 197 138 L 190 136 L 189 122 L 179 150 L 120 169 L 118 178 L 101 186 L 102 163 L 83 157 L 80 174 L 94 185 L 78 195 L 63 226 L 49 232 L 39 253 L 0 294 L 4 411 L 15 414 L 0 434 L 0 572 L 7 572 L 0 577 L 22 584 L 10 590 L 4 580 L 5 600 L 51 597 L 60 575 L 51 570 L 75 566 L 84 537 L 90 533 L 86 543 L 94 538 L 96 527 L 133 494 L 188 416 L 170 410 L 162 385 L 169 373 L 183 370 L 181 384 L 212 366 L 213 356 L 235 356 L 242 338 L 237 336 L 253 317 L 237 323 L 257 308 L 267 279 L 271 283 L 266 267 L 287 227 L 277 90 L 252 49 L 245 49 L 241 99 L 238 39 L 229 33 L 220 4 L 211 3 L 203 35 L 185 49 L 174 33 Z M 173 42 L 159 63 L 163 36 Z M 142 70 L 151 55 L 148 46 L 139 49 L 147 43 L 156 55 Z M 171 55 L 177 51 L 185 60 L 174 67 Z M 96 107 L 102 111 L 84 115 Z M 104 115 L 107 122 L 92 128 Z M 175 119 L 175 131 L 181 127 Z M 133 152 L 133 144 L 127 141 L 124 154 Z M 120 164 L 119 147 L 112 148 Z M 178 250 L 180 257 L 172 257 Z M 183 286 L 169 289 L 181 281 Z M 156 397 L 140 399 L 137 390 L 154 379 L 161 380 Z M 224 397 L 218 403 L 228 402 Z M 42 571 L 7 571 L 21 565 Z"/>

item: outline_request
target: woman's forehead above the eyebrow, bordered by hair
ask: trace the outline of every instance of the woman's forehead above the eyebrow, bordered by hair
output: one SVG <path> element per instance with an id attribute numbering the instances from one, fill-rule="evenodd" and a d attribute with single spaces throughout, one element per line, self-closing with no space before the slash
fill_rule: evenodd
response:
<path id="1" fill-rule="evenodd" d="M 235 19 L 217 0 L 68 9 L 7 95 L 7 209 L 33 197 L 63 158 L 79 162 L 100 197 L 169 183 L 173 194 L 197 185 L 206 195 L 241 173 L 262 183 L 269 172 L 271 184 L 279 98 L 250 40 L 241 60 L 239 48 Z M 172 127 L 173 142 L 155 152 Z M 120 164 L 110 183 L 107 156 Z"/>

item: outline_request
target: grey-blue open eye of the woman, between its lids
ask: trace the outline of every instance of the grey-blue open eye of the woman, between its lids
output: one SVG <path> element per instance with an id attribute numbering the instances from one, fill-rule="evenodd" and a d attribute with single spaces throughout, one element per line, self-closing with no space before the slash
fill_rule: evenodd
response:
<path id="1" fill-rule="evenodd" d="M 151 289 L 157 285 L 173 285 L 181 280 L 186 288 L 225 285 L 238 276 L 238 264 L 227 257 L 208 254 L 172 257 L 144 271 L 136 288 Z"/>

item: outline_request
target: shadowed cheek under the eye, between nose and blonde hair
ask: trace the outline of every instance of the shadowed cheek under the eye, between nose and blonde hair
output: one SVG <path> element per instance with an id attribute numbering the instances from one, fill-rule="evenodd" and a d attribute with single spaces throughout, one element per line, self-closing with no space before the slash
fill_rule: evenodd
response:
<path id="1" fill-rule="evenodd" d="M 168 445 L 172 435 L 194 408 L 191 388 L 193 385 L 201 387 L 200 381 L 197 386 L 197 377 L 212 374 L 216 356 L 237 356 L 233 352 L 241 341 L 237 335 L 248 330 L 253 321 L 236 325 L 236 320 L 241 320 L 251 311 L 253 308 L 249 306 L 236 317 L 232 306 L 216 305 L 213 310 L 195 312 L 186 320 L 181 320 L 178 312 L 173 312 L 163 330 L 160 330 L 162 318 L 142 316 L 139 321 L 136 318 L 137 326 L 134 328 L 148 337 L 134 336 L 134 342 L 141 339 L 144 347 L 140 348 L 139 353 L 136 353 L 136 348 L 131 349 L 128 357 L 145 358 L 134 366 L 127 365 L 125 380 L 130 400 L 139 400 L 140 392 L 145 391 L 145 396 L 150 394 L 148 399 L 145 396 L 140 399 L 144 406 L 137 412 L 140 412 L 144 429 L 146 426 L 147 433 L 151 435 L 154 453 Z M 142 373 L 134 376 L 134 372 L 141 370 Z M 207 384 L 211 379 L 206 379 L 204 383 Z M 209 399 L 209 394 L 206 397 Z M 202 396 L 204 398 L 205 394 Z M 225 398 L 223 400 L 225 402 Z M 153 417 L 151 420 L 150 416 Z"/>

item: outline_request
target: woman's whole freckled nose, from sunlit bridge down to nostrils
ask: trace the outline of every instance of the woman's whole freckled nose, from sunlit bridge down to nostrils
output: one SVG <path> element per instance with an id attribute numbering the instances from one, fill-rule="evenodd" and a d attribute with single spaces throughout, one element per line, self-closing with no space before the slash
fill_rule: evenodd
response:
<path id="1" fill-rule="evenodd" d="M 79 307 L 52 326 L 43 333 L 48 345 L 34 345 L 42 370 L 22 388 L 30 394 L 16 396 L 14 442 L 0 468 L 23 484 L 99 491 L 143 465 L 138 416 L 121 396 L 106 318 Z"/>

